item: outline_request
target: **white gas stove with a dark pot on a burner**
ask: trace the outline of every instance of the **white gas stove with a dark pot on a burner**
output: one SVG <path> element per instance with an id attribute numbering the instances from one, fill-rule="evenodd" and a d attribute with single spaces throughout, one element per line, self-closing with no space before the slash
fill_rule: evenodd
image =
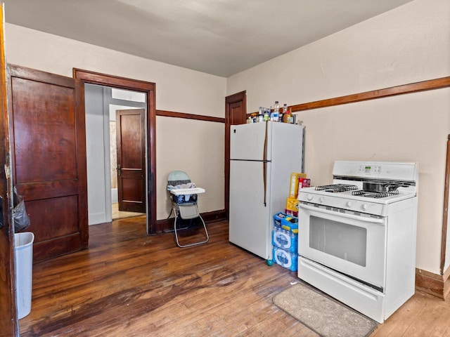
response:
<path id="1" fill-rule="evenodd" d="M 416 163 L 336 161 L 299 191 L 299 277 L 383 322 L 414 293 L 417 188 Z"/>

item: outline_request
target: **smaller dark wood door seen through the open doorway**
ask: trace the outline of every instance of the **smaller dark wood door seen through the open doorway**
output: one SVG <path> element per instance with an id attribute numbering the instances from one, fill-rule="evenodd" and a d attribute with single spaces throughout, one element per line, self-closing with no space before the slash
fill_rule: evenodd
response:
<path id="1" fill-rule="evenodd" d="M 146 213 L 145 110 L 117 110 L 115 118 L 119 211 Z"/>

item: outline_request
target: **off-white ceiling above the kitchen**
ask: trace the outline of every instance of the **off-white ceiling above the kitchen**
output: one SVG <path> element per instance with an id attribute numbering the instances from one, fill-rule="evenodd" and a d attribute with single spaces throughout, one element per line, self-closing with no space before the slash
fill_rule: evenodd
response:
<path id="1" fill-rule="evenodd" d="M 6 22 L 229 77 L 411 0 L 3 0 Z"/>

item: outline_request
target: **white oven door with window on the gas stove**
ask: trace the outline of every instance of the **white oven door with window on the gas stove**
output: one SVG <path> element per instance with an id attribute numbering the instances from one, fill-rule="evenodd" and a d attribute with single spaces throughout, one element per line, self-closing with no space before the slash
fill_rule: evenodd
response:
<path id="1" fill-rule="evenodd" d="M 300 256 L 384 288 L 387 218 L 306 203 L 298 218 Z"/>

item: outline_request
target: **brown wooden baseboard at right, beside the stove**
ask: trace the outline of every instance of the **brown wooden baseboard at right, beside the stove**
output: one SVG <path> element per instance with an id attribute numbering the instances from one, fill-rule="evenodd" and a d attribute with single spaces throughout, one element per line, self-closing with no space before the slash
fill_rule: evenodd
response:
<path id="1" fill-rule="evenodd" d="M 444 300 L 448 299 L 450 293 L 449 277 L 450 267 L 444 272 L 444 275 L 416 268 L 416 289 Z"/>

